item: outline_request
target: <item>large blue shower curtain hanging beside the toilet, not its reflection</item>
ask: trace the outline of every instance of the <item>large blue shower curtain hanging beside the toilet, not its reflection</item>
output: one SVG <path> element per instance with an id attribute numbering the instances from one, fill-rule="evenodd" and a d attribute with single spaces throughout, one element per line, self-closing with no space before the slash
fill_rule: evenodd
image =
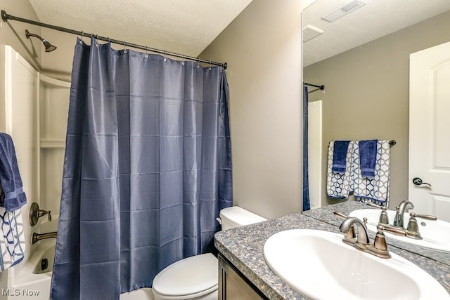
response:
<path id="1" fill-rule="evenodd" d="M 221 67 L 78 39 L 51 299 L 119 299 L 213 250 L 232 205 Z"/>

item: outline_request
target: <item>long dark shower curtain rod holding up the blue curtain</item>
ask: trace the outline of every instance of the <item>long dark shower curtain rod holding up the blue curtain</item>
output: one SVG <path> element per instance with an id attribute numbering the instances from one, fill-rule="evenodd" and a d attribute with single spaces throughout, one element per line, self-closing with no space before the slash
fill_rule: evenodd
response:
<path id="1" fill-rule="evenodd" d="M 28 23 L 28 24 L 31 24 L 31 25 L 37 25 L 37 26 L 40 26 L 40 27 L 46 27 L 46 28 L 58 30 L 60 32 L 67 32 L 69 34 L 76 34 L 78 36 L 86 36 L 86 37 L 93 37 L 93 36 L 95 36 L 96 39 L 101 40 L 101 41 L 108 41 L 110 43 L 117 43 L 117 44 L 123 45 L 125 47 L 129 46 L 129 47 L 138 48 L 138 49 L 141 49 L 141 50 L 146 50 L 146 51 L 150 51 L 150 52 L 154 52 L 154 53 L 160 53 L 160 54 L 164 54 L 164 55 L 180 57 L 180 58 L 183 58 L 184 60 L 193 60 L 195 62 L 205 62 L 207 64 L 212 64 L 214 66 L 223 67 L 224 69 L 226 69 L 226 67 L 228 66 L 226 64 L 226 62 L 224 62 L 224 63 L 222 63 L 222 62 L 212 62 L 211 60 L 200 59 L 200 57 L 192 57 L 192 56 L 188 56 L 188 55 L 182 55 L 182 54 L 173 53 L 173 52 L 169 52 L 169 51 L 165 51 L 165 50 L 150 48 L 150 47 L 147 47 L 147 46 L 136 45 L 135 43 L 126 43 L 125 41 L 118 41 L 116 39 L 110 39 L 109 37 L 99 36 L 98 34 L 88 34 L 86 32 L 79 32 L 79 31 L 73 30 L 73 29 L 68 29 L 68 28 L 59 27 L 59 26 L 55 26 L 55 25 L 49 25 L 49 24 L 45 24 L 45 23 L 41 23 L 41 22 L 36 22 L 36 21 L 33 21 L 33 20 L 18 18 L 18 17 L 15 17 L 13 15 L 8 15 L 8 13 L 6 13 L 6 11 L 4 11 L 4 10 L 1 11 L 1 19 L 4 20 L 4 22 L 8 22 L 8 20 L 14 20 L 14 21 L 18 21 L 18 22 Z"/>

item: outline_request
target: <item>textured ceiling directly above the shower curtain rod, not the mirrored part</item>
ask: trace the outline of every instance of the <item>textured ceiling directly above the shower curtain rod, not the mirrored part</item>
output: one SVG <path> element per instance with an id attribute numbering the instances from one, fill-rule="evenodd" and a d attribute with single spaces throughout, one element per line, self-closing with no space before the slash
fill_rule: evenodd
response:
<path id="1" fill-rule="evenodd" d="M 252 0 L 30 0 L 41 22 L 197 57 Z"/>

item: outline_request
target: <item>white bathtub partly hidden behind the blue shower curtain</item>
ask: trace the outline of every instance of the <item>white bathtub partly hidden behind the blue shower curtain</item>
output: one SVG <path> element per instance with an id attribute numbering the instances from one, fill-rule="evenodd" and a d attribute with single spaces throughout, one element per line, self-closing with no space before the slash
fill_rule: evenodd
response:
<path id="1" fill-rule="evenodd" d="M 56 231 L 58 220 L 44 221 L 32 232 L 46 233 Z M 30 255 L 17 267 L 11 268 L 15 274 L 12 285 L 1 289 L 0 299 L 5 300 L 49 300 L 53 262 L 55 259 L 56 238 L 39 240 L 30 245 Z M 21 266 L 20 266 L 21 265 Z M 136 289 L 120 295 L 120 300 L 153 300 L 150 288 Z"/>

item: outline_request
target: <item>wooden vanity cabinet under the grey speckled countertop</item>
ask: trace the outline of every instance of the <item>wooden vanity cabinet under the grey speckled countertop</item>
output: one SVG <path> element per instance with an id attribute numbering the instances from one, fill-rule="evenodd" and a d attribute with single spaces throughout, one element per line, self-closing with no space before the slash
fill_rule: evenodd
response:
<path id="1" fill-rule="evenodd" d="M 267 299 L 245 276 L 219 254 L 219 300 Z"/>

